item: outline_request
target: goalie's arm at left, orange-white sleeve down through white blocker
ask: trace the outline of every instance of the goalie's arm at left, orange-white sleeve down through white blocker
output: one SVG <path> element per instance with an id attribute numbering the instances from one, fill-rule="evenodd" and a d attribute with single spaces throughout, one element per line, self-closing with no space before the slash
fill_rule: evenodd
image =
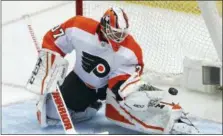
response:
<path id="1" fill-rule="evenodd" d="M 72 17 L 44 35 L 42 49 L 28 80 L 29 90 L 44 94 L 54 90 L 57 81 L 62 83 L 63 78 L 60 74 L 66 75 L 68 67 L 68 62 L 63 57 L 74 50 L 74 45 L 71 43 L 72 36 L 67 30 L 80 21 L 78 18 Z"/>

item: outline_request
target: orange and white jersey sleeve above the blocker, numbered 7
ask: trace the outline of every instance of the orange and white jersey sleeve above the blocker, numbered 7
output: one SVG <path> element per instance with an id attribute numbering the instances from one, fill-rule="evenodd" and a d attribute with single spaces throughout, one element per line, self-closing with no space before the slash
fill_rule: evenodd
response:
<path id="1" fill-rule="evenodd" d="M 62 56 L 72 52 L 74 47 L 71 44 L 71 37 L 66 33 L 66 30 L 70 28 L 75 21 L 76 17 L 73 17 L 50 29 L 43 37 L 42 48 L 55 51 Z"/>

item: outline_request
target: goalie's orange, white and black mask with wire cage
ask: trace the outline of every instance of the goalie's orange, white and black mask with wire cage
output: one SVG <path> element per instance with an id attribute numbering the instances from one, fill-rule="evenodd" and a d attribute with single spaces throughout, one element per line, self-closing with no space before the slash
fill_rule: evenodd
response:
<path id="1" fill-rule="evenodd" d="M 102 33 L 111 43 L 121 43 L 128 36 L 128 18 L 121 8 L 108 9 L 100 24 Z"/>

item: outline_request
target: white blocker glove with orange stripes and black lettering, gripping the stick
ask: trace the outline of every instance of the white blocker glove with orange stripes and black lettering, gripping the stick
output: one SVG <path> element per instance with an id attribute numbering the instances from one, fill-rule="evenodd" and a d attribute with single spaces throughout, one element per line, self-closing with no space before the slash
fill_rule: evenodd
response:
<path id="1" fill-rule="evenodd" d="M 27 82 L 27 89 L 44 95 L 56 90 L 57 82 L 61 85 L 67 73 L 68 61 L 58 53 L 42 49 L 32 75 Z"/>

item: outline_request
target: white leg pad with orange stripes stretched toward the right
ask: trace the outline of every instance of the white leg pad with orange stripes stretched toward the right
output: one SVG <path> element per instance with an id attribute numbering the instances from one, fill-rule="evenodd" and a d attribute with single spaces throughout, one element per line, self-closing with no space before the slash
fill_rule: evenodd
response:
<path id="1" fill-rule="evenodd" d="M 182 114 L 180 107 L 176 106 L 177 108 L 174 108 L 174 105 L 162 102 L 146 106 L 144 110 L 135 110 L 135 108 L 129 107 L 127 102 L 123 104 L 116 101 L 114 96 L 111 90 L 107 91 L 106 104 L 109 104 L 109 107 L 113 107 L 117 111 L 117 113 L 110 114 L 111 116 L 107 116 L 107 118 L 119 126 L 135 131 L 148 134 L 169 134 L 174 121 L 179 119 Z M 107 109 L 107 111 L 109 110 Z M 117 116 L 124 119 L 117 120 Z"/>

